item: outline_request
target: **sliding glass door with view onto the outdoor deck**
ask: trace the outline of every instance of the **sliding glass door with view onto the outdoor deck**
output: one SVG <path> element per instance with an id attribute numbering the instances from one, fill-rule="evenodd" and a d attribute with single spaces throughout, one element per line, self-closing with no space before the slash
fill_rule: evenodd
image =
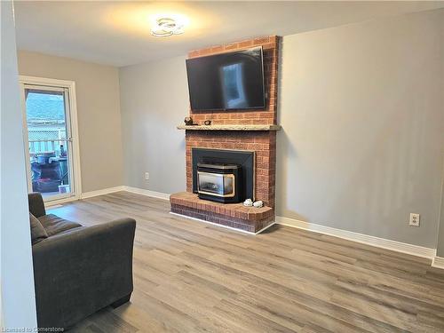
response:
<path id="1" fill-rule="evenodd" d="M 73 122 L 69 88 L 21 83 L 27 146 L 28 191 L 44 201 L 76 197 Z"/>

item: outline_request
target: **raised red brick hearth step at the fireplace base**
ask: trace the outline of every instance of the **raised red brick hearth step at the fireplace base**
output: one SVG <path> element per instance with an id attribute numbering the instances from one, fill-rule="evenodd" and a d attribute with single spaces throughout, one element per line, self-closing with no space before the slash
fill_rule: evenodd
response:
<path id="1" fill-rule="evenodd" d="M 197 194 L 179 192 L 170 195 L 171 211 L 205 221 L 231 226 L 250 233 L 274 222 L 271 207 L 245 207 L 242 203 L 219 203 L 199 199 Z"/>

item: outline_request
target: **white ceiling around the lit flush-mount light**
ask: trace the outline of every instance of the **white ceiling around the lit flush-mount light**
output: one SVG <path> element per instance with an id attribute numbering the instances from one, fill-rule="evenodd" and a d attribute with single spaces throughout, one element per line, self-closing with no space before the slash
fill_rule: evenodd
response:
<path id="1" fill-rule="evenodd" d="M 285 36 L 444 2 L 15 2 L 20 50 L 118 67 L 256 36 Z M 186 33 L 150 35 L 153 16 L 182 14 Z"/>

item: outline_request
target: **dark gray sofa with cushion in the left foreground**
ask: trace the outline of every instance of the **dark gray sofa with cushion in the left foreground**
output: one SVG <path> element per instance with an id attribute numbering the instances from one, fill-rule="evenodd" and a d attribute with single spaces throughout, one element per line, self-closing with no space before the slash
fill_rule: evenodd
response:
<path id="1" fill-rule="evenodd" d="M 68 329 L 130 300 L 134 219 L 86 227 L 47 215 L 41 194 L 29 194 L 28 201 L 47 234 L 32 246 L 39 327 Z"/>

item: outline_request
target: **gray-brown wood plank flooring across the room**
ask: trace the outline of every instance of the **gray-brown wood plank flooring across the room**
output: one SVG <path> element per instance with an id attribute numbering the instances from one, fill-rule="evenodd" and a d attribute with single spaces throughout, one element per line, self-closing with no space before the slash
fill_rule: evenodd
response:
<path id="1" fill-rule="evenodd" d="M 444 332 L 430 261 L 287 226 L 249 235 L 119 192 L 50 210 L 94 225 L 137 220 L 131 303 L 72 332 Z"/>

